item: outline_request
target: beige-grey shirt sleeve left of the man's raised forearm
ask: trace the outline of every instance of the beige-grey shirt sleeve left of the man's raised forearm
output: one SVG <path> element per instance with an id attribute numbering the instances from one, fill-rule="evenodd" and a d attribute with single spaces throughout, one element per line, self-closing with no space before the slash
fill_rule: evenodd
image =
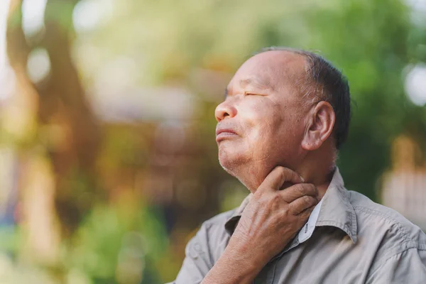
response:
<path id="1" fill-rule="evenodd" d="M 207 226 L 203 224 L 197 234 L 188 242 L 185 260 L 175 281 L 169 284 L 198 284 L 214 265 L 209 250 Z"/>

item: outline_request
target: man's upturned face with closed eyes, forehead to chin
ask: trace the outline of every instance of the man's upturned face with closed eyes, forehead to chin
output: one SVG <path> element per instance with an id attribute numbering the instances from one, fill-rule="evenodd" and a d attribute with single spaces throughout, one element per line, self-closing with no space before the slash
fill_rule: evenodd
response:
<path id="1" fill-rule="evenodd" d="M 256 175 L 258 165 L 267 171 L 298 165 L 307 109 L 297 82 L 304 83 L 305 64 L 302 55 L 268 51 L 231 79 L 215 111 L 219 162 L 231 175 Z"/>

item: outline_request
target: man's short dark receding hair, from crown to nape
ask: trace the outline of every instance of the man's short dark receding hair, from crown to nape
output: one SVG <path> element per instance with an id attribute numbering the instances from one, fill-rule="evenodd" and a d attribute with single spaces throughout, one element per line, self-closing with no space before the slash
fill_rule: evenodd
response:
<path id="1" fill-rule="evenodd" d="M 283 50 L 302 55 L 306 58 L 305 84 L 300 84 L 301 92 L 307 99 L 328 102 L 336 115 L 333 135 L 336 148 L 339 150 L 342 143 L 346 141 L 349 133 L 349 122 L 351 121 L 351 94 L 347 78 L 328 60 L 317 53 L 296 48 L 271 47 L 263 48 L 258 53 L 272 50 Z M 302 78 L 304 79 L 304 78 Z M 307 83 L 307 84 L 306 84 Z"/>

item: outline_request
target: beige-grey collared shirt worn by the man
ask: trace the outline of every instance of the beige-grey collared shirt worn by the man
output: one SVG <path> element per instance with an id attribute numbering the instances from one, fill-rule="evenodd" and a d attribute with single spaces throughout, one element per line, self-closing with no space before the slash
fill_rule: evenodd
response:
<path id="1" fill-rule="evenodd" d="M 200 283 L 249 202 L 202 224 L 175 284 Z M 425 210 L 426 213 L 426 210 Z M 322 202 L 253 283 L 426 283 L 426 235 L 398 212 L 348 191 L 339 170 Z"/>

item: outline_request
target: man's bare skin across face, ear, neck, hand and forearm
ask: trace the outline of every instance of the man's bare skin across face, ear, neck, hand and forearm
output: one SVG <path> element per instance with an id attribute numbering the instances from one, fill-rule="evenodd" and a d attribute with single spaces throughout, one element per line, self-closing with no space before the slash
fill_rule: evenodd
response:
<path id="1" fill-rule="evenodd" d="M 253 192 L 228 246 L 202 283 L 251 283 L 307 222 L 334 165 L 335 114 L 300 94 L 305 58 L 253 56 L 215 111 L 219 163 Z"/>

